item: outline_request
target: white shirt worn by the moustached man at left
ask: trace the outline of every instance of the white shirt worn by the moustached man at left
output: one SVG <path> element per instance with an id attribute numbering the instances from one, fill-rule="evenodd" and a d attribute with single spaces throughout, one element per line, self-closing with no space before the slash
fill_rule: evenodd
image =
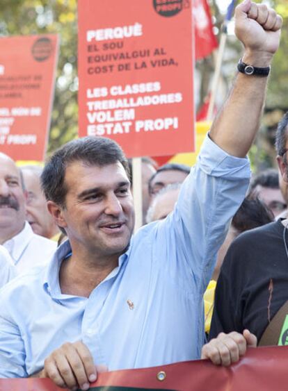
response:
<path id="1" fill-rule="evenodd" d="M 28 222 L 20 233 L 3 243 L 10 253 L 17 272 L 29 271 L 36 265 L 48 263 L 56 251 L 57 243 L 33 233 Z"/>

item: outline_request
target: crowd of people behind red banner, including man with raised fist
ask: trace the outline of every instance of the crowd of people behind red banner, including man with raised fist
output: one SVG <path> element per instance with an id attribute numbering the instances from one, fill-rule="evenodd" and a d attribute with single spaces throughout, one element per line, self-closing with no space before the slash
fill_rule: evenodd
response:
<path id="1" fill-rule="evenodd" d="M 134 234 L 131 162 L 113 140 L 68 142 L 44 169 L 0 153 L 1 378 L 88 390 L 105 370 L 230 365 L 248 346 L 278 343 L 288 114 L 280 180 L 269 171 L 250 181 L 246 155 L 281 26 L 263 4 L 237 6 L 244 53 L 230 95 L 194 167 L 143 158 L 145 224 Z"/>

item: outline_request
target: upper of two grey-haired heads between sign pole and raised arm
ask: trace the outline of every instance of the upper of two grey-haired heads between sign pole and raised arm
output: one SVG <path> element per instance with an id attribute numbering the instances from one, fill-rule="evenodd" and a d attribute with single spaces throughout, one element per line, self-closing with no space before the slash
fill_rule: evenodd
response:
<path id="1" fill-rule="evenodd" d="M 191 167 L 179 163 L 167 163 L 157 169 L 149 181 L 149 194 L 154 197 L 159 190 L 171 183 L 182 183 L 189 175 Z"/>

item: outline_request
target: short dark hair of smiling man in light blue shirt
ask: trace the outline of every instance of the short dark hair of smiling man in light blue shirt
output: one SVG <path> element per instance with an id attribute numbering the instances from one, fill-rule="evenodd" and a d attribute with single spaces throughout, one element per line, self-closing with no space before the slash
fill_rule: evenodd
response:
<path id="1" fill-rule="evenodd" d="M 49 158 L 41 175 L 41 185 L 47 200 L 65 206 L 67 188 L 65 170 L 74 162 L 104 167 L 120 162 L 129 177 L 127 158 L 121 147 L 109 138 L 88 136 L 67 142 Z"/>

